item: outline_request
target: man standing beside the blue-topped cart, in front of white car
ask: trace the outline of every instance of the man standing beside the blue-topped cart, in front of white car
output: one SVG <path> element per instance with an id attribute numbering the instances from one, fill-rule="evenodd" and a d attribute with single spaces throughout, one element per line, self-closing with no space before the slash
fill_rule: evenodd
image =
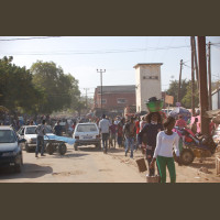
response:
<path id="1" fill-rule="evenodd" d="M 42 121 L 42 124 L 38 124 L 36 127 L 36 134 L 37 134 L 37 138 L 36 138 L 36 152 L 35 152 L 35 157 L 38 157 L 37 154 L 38 154 L 38 150 L 40 150 L 40 145 L 42 146 L 41 148 L 41 156 L 45 156 L 44 155 L 44 135 L 46 134 L 46 131 L 45 131 L 45 120 Z"/>

